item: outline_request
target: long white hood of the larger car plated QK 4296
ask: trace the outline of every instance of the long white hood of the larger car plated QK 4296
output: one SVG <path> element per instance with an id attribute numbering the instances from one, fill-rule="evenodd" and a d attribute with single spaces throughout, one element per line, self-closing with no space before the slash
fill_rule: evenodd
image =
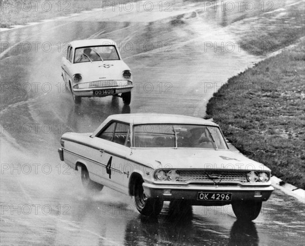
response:
<path id="1" fill-rule="evenodd" d="M 132 159 L 157 168 L 206 168 L 270 171 L 241 153 L 214 149 L 133 149 Z M 129 157 L 130 158 L 130 157 Z"/>

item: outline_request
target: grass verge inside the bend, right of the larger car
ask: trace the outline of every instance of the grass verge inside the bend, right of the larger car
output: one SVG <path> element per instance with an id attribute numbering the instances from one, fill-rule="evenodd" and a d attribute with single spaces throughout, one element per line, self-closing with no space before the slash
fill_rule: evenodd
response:
<path id="1" fill-rule="evenodd" d="M 207 104 L 229 141 L 305 189 L 305 40 L 228 80 Z"/>

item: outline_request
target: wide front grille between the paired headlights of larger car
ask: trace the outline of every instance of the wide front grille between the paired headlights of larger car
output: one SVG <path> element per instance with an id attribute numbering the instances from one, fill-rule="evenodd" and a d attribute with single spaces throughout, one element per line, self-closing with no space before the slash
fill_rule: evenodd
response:
<path id="1" fill-rule="evenodd" d="M 178 170 L 180 176 L 178 182 L 185 181 L 238 181 L 238 182 L 249 182 L 247 180 L 247 173 L 249 171 L 236 171 L 236 170 Z M 217 175 L 220 178 L 214 177 L 209 178 L 208 175 Z"/>

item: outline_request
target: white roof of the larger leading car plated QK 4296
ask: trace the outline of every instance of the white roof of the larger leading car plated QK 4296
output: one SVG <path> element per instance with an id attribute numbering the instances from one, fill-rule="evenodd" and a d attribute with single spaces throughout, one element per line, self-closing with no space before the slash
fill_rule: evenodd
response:
<path id="1" fill-rule="evenodd" d="M 218 126 L 210 120 L 178 115 L 178 114 L 158 114 L 158 113 L 132 113 L 132 114 L 113 114 L 107 118 L 107 121 L 118 120 L 129 124 L 194 124 Z"/>

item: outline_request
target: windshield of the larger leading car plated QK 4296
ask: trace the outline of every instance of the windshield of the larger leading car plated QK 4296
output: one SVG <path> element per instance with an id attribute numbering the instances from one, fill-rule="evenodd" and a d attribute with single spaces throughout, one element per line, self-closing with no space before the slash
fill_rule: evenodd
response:
<path id="1" fill-rule="evenodd" d="M 153 124 L 133 128 L 134 147 L 228 149 L 218 127 Z"/>

